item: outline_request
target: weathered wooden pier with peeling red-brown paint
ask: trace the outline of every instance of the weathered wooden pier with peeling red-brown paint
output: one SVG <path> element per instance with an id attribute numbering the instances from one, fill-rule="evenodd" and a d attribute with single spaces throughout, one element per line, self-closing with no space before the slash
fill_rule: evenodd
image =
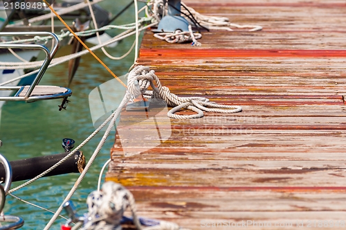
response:
<path id="1" fill-rule="evenodd" d="M 170 138 L 149 150 L 125 153 L 117 138 L 107 180 L 134 193 L 140 216 L 190 229 L 345 229 L 345 1 L 185 3 L 263 30 L 203 31 L 201 47 L 148 30 L 138 64 L 174 94 L 243 111 L 171 119 Z"/>

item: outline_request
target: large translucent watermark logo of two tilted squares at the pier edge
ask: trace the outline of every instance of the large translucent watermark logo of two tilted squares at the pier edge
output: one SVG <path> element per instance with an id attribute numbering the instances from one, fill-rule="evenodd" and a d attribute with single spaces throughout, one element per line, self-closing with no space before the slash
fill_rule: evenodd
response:
<path id="1" fill-rule="evenodd" d="M 120 79 L 126 80 L 125 76 Z M 106 119 L 118 109 L 120 101 L 125 95 L 125 88 L 119 86 L 116 79 L 104 82 L 89 94 L 91 119 L 95 128 L 98 128 Z M 136 107 L 138 105 L 138 107 Z M 131 109 L 129 109 L 129 107 Z M 112 131 L 118 132 L 123 151 L 131 152 L 134 148 L 140 151 L 150 150 L 170 138 L 172 134 L 170 118 L 167 117 L 167 104 L 163 100 L 151 100 L 151 109 L 140 107 L 140 103 L 133 102 L 127 105 L 127 112 L 121 114 L 122 125 Z M 101 131 L 105 131 L 107 125 Z"/>

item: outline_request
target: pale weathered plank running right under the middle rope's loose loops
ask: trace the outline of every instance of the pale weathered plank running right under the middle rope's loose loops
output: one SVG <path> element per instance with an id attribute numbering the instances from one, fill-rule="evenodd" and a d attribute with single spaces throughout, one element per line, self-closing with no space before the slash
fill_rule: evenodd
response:
<path id="1" fill-rule="evenodd" d="M 261 102 L 259 102 L 261 103 Z M 327 104 L 327 103 L 326 103 Z M 339 103 L 340 104 L 340 103 Z M 320 114 L 303 114 L 303 113 L 285 113 L 285 114 L 271 114 L 261 113 L 248 113 L 241 112 L 235 114 L 217 114 L 214 113 L 206 113 L 206 116 L 202 118 L 196 119 L 167 119 L 166 114 L 157 114 L 156 112 L 123 112 L 120 121 L 122 126 L 118 127 L 119 130 L 124 129 L 127 125 L 131 125 L 132 128 L 140 129 L 140 125 L 147 126 L 148 128 L 152 125 L 152 121 L 147 120 L 147 123 L 136 123 L 139 121 L 138 119 L 143 118 L 147 119 L 149 117 L 155 116 L 156 121 L 160 125 L 166 125 L 172 127 L 173 129 L 181 129 L 182 127 L 190 128 L 190 127 L 232 127 L 237 125 L 248 125 L 255 127 L 255 125 L 311 125 L 311 126 L 320 126 L 325 127 L 327 125 L 335 125 L 342 127 L 346 125 L 346 114 L 344 113 L 330 113 L 329 111 L 325 111 L 325 115 Z M 168 121 L 167 121 L 168 120 Z M 153 126 L 154 128 L 154 126 Z"/>

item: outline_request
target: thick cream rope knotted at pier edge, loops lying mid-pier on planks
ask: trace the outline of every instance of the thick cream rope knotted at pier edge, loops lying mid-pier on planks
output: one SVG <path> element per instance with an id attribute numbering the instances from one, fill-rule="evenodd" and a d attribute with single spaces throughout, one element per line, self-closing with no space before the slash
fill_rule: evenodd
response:
<path id="1" fill-rule="evenodd" d="M 156 83 L 156 86 L 154 85 Z M 152 91 L 148 91 L 148 87 L 152 87 Z M 242 107 L 238 105 L 219 105 L 217 103 L 209 102 L 208 98 L 203 97 L 179 97 L 170 92 L 170 89 L 161 85 L 160 80 L 156 76 L 154 70 L 149 67 L 137 66 L 129 73 L 127 80 L 127 87 L 134 97 L 141 94 L 145 98 L 159 98 L 165 100 L 168 106 L 173 107 L 167 113 L 170 118 L 201 118 L 205 112 L 217 113 L 236 113 L 241 112 Z M 181 109 L 190 109 L 197 114 L 192 115 L 177 115 L 174 114 Z"/>

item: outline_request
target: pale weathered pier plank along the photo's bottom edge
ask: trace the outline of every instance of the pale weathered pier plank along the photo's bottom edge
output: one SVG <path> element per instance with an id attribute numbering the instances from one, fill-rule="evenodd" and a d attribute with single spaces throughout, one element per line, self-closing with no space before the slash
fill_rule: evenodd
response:
<path id="1" fill-rule="evenodd" d="M 190 229 L 207 229 L 207 228 L 235 228 L 237 226 L 233 226 L 231 224 L 239 223 L 239 226 L 242 226 L 242 221 L 246 222 L 255 221 L 257 224 L 251 224 L 250 222 L 245 227 L 246 229 L 310 229 L 313 227 L 314 221 L 316 222 L 316 228 L 318 227 L 318 221 L 325 220 L 334 220 L 332 222 L 332 227 L 323 227 L 323 229 L 345 229 L 344 220 L 342 218 L 345 215 L 344 211 L 282 211 L 282 212 L 233 212 L 233 211 L 225 211 L 225 212 L 215 212 L 215 211 L 190 211 L 182 209 L 173 210 L 173 211 L 165 211 L 165 212 L 157 212 L 157 211 L 138 211 L 140 216 L 156 218 L 161 220 L 173 221 L 185 228 Z M 128 213 L 128 215 L 131 215 Z M 296 222 L 299 222 L 300 226 L 297 227 Z M 221 223 L 229 222 L 230 227 L 226 225 L 222 226 Z M 208 227 L 206 224 L 208 223 Z M 217 226 L 217 223 L 219 225 Z M 212 224 L 215 224 L 212 226 Z M 275 226 L 278 224 L 278 226 Z M 282 226 L 280 227 L 280 224 Z M 322 222 L 323 224 L 323 222 Z M 338 227 L 336 227 L 338 224 Z M 323 225 L 322 225 L 323 226 Z"/>

